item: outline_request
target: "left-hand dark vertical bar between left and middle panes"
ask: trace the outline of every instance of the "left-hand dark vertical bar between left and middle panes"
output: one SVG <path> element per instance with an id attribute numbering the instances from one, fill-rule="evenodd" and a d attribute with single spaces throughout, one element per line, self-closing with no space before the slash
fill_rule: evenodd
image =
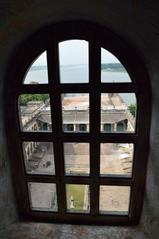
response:
<path id="1" fill-rule="evenodd" d="M 48 50 L 48 75 L 50 83 L 50 105 L 52 112 L 52 129 L 54 136 L 54 155 L 55 155 L 55 172 L 57 177 L 57 199 L 58 210 L 60 214 L 65 212 L 65 187 L 64 179 L 64 159 L 63 145 L 60 141 L 62 132 L 62 107 L 61 107 L 61 92 L 59 90 L 59 59 L 58 59 L 58 44 L 50 43 Z"/>

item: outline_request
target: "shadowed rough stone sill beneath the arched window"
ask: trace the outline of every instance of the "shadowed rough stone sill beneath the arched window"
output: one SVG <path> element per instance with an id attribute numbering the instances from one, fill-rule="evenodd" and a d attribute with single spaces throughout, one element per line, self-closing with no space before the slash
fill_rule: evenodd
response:
<path id="1" fill-rule="evenodd" d="M 17 223 L 0 234 L 1 239 L 148 239 L 143 228 Z"/>

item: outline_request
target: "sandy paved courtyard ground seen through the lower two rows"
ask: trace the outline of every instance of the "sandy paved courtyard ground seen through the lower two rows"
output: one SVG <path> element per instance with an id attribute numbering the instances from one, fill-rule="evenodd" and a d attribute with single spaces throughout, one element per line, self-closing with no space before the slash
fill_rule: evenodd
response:
<path id="1" fill-rule="evenodd" d="M 132 145 L 102 144 L 101 169 L 103 175 L 130 175 L 132 166 Z M 32 160 L 39 163 L 32 173 L 50 174 L 54 172 L 52 144 L 41 143 L 40 150 L 32 155 Z M 42 152 L 42 153 L 41 153 Z M 89 173 L 89 145 L 86 143 L 67 143 L 64 147 L 67 174 L 81 175 Z M 41 155 L 41 157 L 39 156 Z M 37 157 L 38 156 L 38 157 Z M 50 162 L 47 165 L 47 162 Z M 30 187 L 32 206 L 43 210 L 56 210 L 56 188 L 54 184 L 34 183 Z M 86 190 L 87 192 L 87 190 Z M 88 192 L 87 192 L 88 193 Z M 100 188 L 100 211 L 128 211 L 129 187 Z M 87 197 L 85 195 L 85 197 Z"/>

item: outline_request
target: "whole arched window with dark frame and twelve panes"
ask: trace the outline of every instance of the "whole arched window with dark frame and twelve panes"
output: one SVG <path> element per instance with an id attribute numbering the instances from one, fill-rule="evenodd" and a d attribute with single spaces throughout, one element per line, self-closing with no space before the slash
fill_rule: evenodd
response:
<path id="1" fill-rule="evenodd" d="M 137 223 L 150 92 L 136 51 L 104 27 L 67 22 L 29 37 L 15 56 L 5 110 L 20 215 Z"/>

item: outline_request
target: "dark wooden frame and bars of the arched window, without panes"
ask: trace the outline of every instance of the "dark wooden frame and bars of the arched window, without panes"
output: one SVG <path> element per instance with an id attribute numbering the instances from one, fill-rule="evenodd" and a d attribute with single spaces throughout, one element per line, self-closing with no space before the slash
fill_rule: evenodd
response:
<path id="1" fill-rule="evenodd" d="M 89 41 L 89 83 L 59 85 L 57 44 L 60 41 L 81 39 Z M 114 54 L 128 71 L 132 83 L 102 83 L 100 81 L 100 48 Z M 49 84 L 24 85 L 22 79 L 32 61 L 47 50 Z M 16 58 L 15 58 L 16 57 Z M 14 61 L 16 59 L 16 62 Z M 140 66 L 140 67 L 139 67 Z M 53 74 L 54 72 L 54 74 Z M 144 85 L 144 87 L 143 87 Z M 8 87 L 9 86 L 9 87 Z M 78 87 L 77 87 L 78 86 Z M 99 90 L 96 94 L 96 90 Z M 52 94 L 54 92 L 54 95 Z M 62 131 L 61 93 L 90 92 L 90 132 L 65 133 Z M 135 133 L 100 132 L 100 94 L 99 93 L 135 93 L 137 97 L 137 119 Z M 18 118 L 18 96 L 20 94 L 49 93 L 51 102 L 57 106 L 56 112 L 51 103 L 52 126 L 56 132 L 21 132 Z M 12 100 L 10 100 L 12 98 Z M 147 70 L 140 54 L 133 46 L 115 33 L 94 23 L 71 21 L 48 26 L 29 36 L 14 51 L 6 74 L 4 86 L 4 110 L 8 149 L 12 163 L 12 174 L 16 192 L 19 215 L 22 219 L 79 224 L 132 225 L 140 219 L 149 146 L 150 126 L 150 85 Z M 54 114 L 55 113 L 55 114 Z M 94 115 L 97 115 L 95 118 Z M 53 117 L 54 116 L 54 117 Z M 59 120 L 61 124 L 59 124 Z M 98 126 L 98 127 L 97 127 Z M 91 130 L 94 129 L 94 130 Z M 12 132 L 12 133 L 11 133 Z M 75 140 L 76 137 L 76 140 Z M 56 176 L 28 175 L 25 172 L 21 141 L 52 142 L 54 139 Z M 90 177 L 64 176 L 64 157 L 62 142 L 90 142 Z M 99 142 L 134 143 L 133 175 L 131 178 L 99 177 Z M 60 153 L 59 153 L 60 152 Z M 17 173 L 18 172 L 18 173 Z M 140 173 L 142 172 L 142 174 Z M 31 211 L 26 182 L 57 183 L 59 213 Z M 90 184 L 90 214 L 66 213 L 66 192 L 63 186 L 70 184 Z M 99 185 L 131 186 L 129 215 L 99 214 Z M 62 195 L 62 196 L 61 196 Z"/>

